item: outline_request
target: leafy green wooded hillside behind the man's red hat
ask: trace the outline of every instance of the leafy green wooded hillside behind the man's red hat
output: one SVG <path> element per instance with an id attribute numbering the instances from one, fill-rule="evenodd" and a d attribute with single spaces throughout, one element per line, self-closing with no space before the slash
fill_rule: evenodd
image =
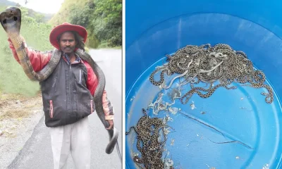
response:
<path id="1" fill-rule="evenodd" d="M 90 48 L 122 45 L 122 0 L 65 0 L 49 23 L 64 22 L 86 27 Z"/>

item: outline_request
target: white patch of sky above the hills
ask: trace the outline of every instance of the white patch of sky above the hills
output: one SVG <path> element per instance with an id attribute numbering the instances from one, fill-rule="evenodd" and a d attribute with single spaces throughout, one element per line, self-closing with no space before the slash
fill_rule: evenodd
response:
<path id="1" fill-rule="evenodd" d="M 42 13 L 56 13 L 61 8 L 61 4 L 64 0 L 27 0 L 25 5 L 25 0 L 8 0 L 14 1 L 21 6 L 26 8 L 31 8 L 34 11 Z"/>

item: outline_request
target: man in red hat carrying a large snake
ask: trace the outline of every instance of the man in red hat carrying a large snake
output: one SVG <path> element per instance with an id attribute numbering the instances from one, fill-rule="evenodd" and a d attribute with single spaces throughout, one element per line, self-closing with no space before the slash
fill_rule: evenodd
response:
<path id="1" fill-rule="evenodd" d="M 62 51 L 54 72 L 40 82 L 45 124 L 50 127 L 54 169 L 66 167 L 70 151 L 76 168 L 90 168 L 88 115 L 94 111 L 92 96 L 98 80 L 90 64 L 75 54 L 76 49 L 84 50 L 86 39 L 87 30 L 70 23 L 54 27 L 49 36 L 51 44 Z M 14 58 L 20 63 L 11 39 L 8 42 Z M 35 72 L 42 70 L 52 56 L 52 52 L 28 49 L 26 44 L 25 51 Z M 110 130 L 114 126 L 114 111 L 106 91 L 103 108 L 110 125 L 106 129 Z"/>

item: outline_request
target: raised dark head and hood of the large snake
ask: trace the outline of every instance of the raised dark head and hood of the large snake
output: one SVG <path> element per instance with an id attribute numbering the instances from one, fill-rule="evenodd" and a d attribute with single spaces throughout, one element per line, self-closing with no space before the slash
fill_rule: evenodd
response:
<path id="1" fill-rule="evenodd" d="M 21 11 L 20 8 L 11 7 L 0 13 L 0 22 L 4 30 L 9 32 L 20 32 Z"/>

